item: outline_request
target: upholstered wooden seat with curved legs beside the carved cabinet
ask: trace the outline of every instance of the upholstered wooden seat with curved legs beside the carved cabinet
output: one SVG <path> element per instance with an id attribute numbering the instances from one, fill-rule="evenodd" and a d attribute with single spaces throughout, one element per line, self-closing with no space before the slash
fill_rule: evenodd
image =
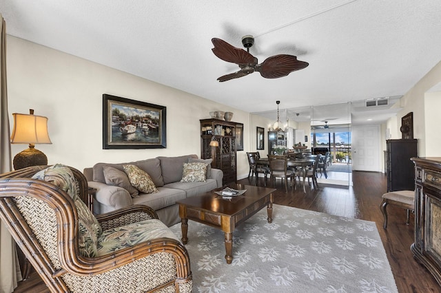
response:
<path id="1" fill-rule="evenodd" d="M 409 224 L 409 211 L 413 213 L 415 210 L 415 191 L 391 191 L 390 193 L 384 193 L 382 199 L 380 209 L 384 217 L 384 229 L 386 229 L 387 226 L 386 206 L 388 204 L 404 208 L 406 210 L 406 224 Z"/>

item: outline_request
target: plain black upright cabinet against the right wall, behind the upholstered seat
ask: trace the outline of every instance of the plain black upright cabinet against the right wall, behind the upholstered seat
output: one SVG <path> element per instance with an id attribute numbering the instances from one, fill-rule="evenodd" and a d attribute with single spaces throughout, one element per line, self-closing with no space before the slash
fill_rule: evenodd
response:
<path id="1" fill-rule="evenodd" d="M 413 162 L 417 140 L 386 140 L 387 192 L 413 191 L 415 187 Z"/>

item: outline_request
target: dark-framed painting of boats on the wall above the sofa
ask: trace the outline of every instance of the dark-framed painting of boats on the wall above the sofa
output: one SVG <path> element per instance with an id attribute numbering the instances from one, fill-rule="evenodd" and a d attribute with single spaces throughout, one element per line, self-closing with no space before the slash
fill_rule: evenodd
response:
<path id="1" fill-rule="evenodd" d="M 166 107 L 103 94 L 103 149 L 167 147 Z"/>

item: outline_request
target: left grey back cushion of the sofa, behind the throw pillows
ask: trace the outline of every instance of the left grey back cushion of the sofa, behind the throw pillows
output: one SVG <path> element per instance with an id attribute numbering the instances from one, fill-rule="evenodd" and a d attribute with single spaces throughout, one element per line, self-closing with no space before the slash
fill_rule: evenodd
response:
<path id="1" fill-rule="evenodd" d="M 127 163 L 119 163 L 119 164 L 111 164 L 111 163 L 96 163 L 93 166 L 93 181 L 105 183 L 103 167 L 104 166 L 112 166 L 115 169 L 124 171 L 123 165 L 135 165 L 139 166 L 139 168 L 145 172 L 147 172 L 155 184 L 155 186 L 163 186 L 163 177 L 161 171 L 161 164 L 157 158 L 141 160 L 136 162 L 127 162 Z"/>

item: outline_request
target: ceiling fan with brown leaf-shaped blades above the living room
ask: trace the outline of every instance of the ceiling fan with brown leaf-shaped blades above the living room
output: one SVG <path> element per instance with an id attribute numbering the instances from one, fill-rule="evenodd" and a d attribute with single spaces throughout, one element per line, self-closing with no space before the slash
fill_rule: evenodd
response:
<path id="1" fill-rule="evenodd" d="M 242 38 L 242 44 L 247 48 L 247 51 L 229 45 L 229 43 L 217 38 L 213 38 L 212 43 L 214 45 L 212 51 L 218 58 L 236 63 L 240 67 L 238 72 L 220 76 L 217 79 L 220 82 L 247 76 L 253 72 L 260 72 L 260 75 L 265 78 L 279 78 L 309 65 L 305 61 L 298 61 L 296 56 L 287 54 L 268 57 L 263 63 L 258 64 L 257 58 L 249 54 L 249 48 L 254 44 L 254 36 L 250 35 Z"/>

